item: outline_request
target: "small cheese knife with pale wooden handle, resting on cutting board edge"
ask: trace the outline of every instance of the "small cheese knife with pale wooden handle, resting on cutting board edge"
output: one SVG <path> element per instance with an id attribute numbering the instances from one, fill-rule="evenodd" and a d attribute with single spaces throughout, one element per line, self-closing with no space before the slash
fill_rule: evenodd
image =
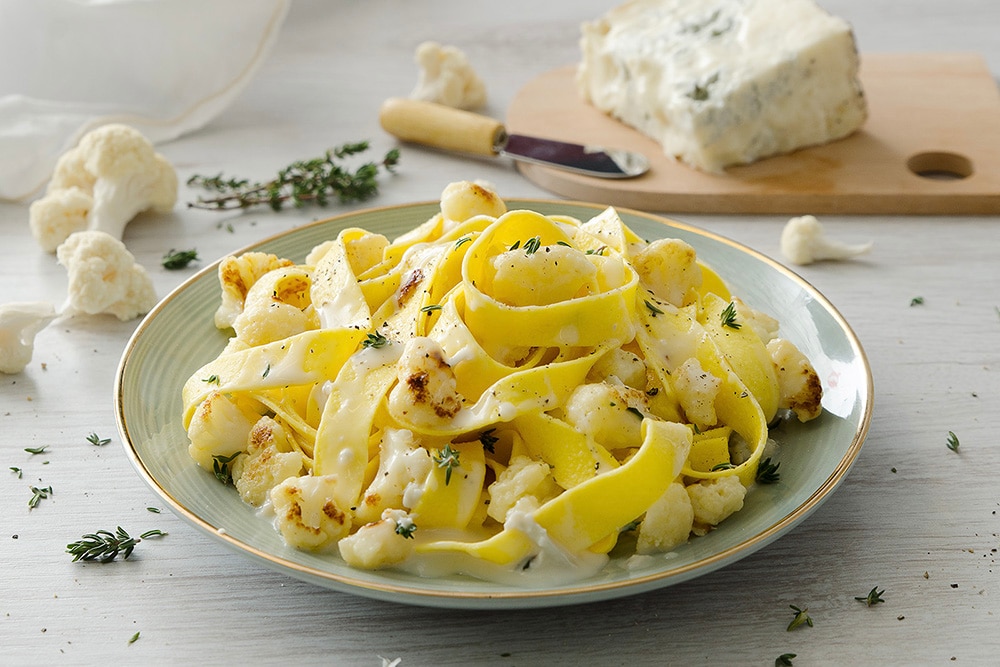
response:
<path id="1" fill-rule="evenodd" d="M 503 123 L 488 116 L 422 100 L 386 100 L 379 122 L 403 141 L 472 155 L 500 155 L 598 178 L 633 178 L 649 169 L 640 153 L 509 134 Z"/>

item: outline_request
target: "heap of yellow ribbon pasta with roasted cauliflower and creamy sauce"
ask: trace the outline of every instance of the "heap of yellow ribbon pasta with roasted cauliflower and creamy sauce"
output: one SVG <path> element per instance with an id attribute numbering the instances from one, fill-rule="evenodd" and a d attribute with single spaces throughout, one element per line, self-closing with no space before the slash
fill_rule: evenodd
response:
<path id="1" fill-rule="evenodd" d="M 356 568 L 551 582 L 669 552 L 743 506 L 769 423 L 822 411 L 776 320 L 612 208 L 452 183 L 393 241 L 345 229 L 219 280 L 234 335 L 184 385 L 190 455 Z"/>

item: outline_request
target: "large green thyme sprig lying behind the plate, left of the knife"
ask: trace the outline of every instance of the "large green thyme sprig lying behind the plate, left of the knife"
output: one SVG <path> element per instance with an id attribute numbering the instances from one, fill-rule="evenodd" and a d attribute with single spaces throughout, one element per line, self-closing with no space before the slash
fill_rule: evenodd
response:
<path id="1" fill-rule="evenodd" d="M 322 157 L 293 162 L 266 182 L 224 178 L 221 173 L 195 174 L 188 179 L 188 185 L 216 192 L 218 196 L 199 197 L 189 202 L 188 207 L 232 210 L 267 205 L 279 211 L 286 203 L 300 208 L 307 203 L 326 206 L 332 198 L 342 204 L 362 201 L 378 192 L 379 171 L 392 172 L 399 163 L 399 149 L 393 148 L 380 162 L 366 162 L 354 171 L 341 164 L 345 158 L 366 150 L 367 141 L 343 144 L 326 151 Z"/>

